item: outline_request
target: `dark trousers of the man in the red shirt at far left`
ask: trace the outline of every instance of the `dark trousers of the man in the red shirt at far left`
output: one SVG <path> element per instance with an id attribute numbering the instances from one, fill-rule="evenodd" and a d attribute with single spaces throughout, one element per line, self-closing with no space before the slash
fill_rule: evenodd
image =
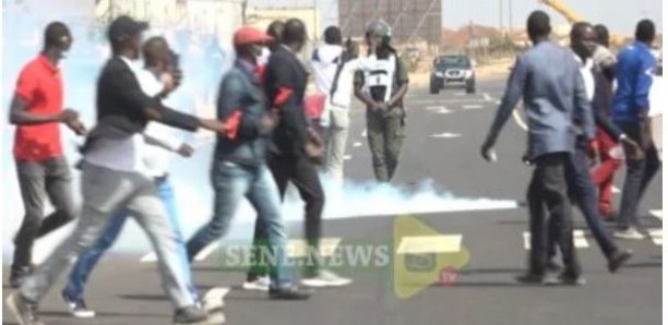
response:
<path id="1" fill-rule="evenodd" d="M 72 174 L 64 158 L 41 162 L 16 160 L 16 173 L 25 216 L 16 233 L 12 268 L 29 266 L 35 239 L 48 234 L 74 219 L 76 206 L 72 193 Z M 44 216 L 44 200 L 48 197 L 53 213 Z"/>

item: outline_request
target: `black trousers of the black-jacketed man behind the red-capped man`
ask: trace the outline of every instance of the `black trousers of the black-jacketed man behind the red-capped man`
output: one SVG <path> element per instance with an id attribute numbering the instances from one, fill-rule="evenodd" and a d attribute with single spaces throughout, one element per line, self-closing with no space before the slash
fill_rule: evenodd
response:
<path id="1" fill-rule="evenodd" d="M 322 236 L 322 210 L 324 208 L 324 191 L 318 177 L 315 164 L 306 156 L 286 157 L 270 155 L 269 167 L 276 180 L 281 198 L 285 198 L 288 182 L 291 182 L 301 200 L 305 202 L 305 238 L 311 252 L 318 252 L 320 237 Z M 266 244 L 266 230 L 264 225 L 255 220 L 253 249 Z M 258 250 L 255 250 L 258 251 Z M 314 275 L 318 270 L 317 258 L 307 267 L 307 275 Z M 254 280 L 259 275 L 266 273 L 266 267 L 255 265 L 248 274 L 248 280 Z"/>

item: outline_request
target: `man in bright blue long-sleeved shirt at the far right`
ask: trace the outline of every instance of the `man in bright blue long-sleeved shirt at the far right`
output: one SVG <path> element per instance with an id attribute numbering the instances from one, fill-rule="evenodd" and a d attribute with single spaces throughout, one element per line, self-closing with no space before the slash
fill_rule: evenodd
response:
<path id="1" fill-rule="evenodd" d="M 654 41 L 655 26 L 652 21 L 637 23 L 635 41 L 624 48 L 617 61 L 617 93 L 612 103 L 612 120 L 631 139 L 641 144 L 644 158 L 627 158 L 627 179 L 615 236 L 622 239 L 641 240 L 637 231 L 637 206 L 642 195 L 656 174 L 660 161 L 652 140 L 649 111 L 649 87 L 656 59 L 649 51 Z M 639 158 L 639 157 L 636 157 Z"/>

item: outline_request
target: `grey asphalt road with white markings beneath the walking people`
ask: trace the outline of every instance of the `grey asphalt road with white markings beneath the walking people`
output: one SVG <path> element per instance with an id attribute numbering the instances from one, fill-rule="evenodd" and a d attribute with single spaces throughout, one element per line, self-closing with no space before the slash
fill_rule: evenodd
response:
<path id="1" fill-rule="evenodd" d="M 522 202 L 530 168 L 520 161 L 526 145 L 525 133 L 511 119 L 499 140 L 499 161 L 488 164 L 478 154 L 502 91 L 503 81 L 494 80 L 479 82 L 476 95 L 464 95 L 458 89 L 429 95 L 426 89 L 413 89 L 407 99 L 406 139 L 394 180 L 396 186 L 410 192 L 421 180 L 430 178 L 438 189 L 450 193 L 450 198 L 487 197 L 518 203 L 515 208 L 474 206 L 460 212 L 413 214 L 433 231 L 461 239 L 452 245 L 454 252 L 450 254 L 466 260 L 465 265 L 452 270 L 451 277 L 444 279 L 428 274 L 432 270 L 404 265 L 409 268 L 406 274 L 393 270 L 392 263 L 384 267 L 347 267 L 337 272 L 351 277 L 353 286 L 318 290 L 305 302 L 273 302 L 263 293 L 239 290 L 243 274 L 223 270 L 220 254 L 214 252 L 193 266 L 198 286 L 232 289 L 225 298 L 228 324 L 659 324 L 660 231 L 653 240 L 620 242 L 633 249 L 634 256 L 628 267 L 612 275 L 585 230 L 577 250 L 587 279 L 584 287 L 545 288 L 513 281 L 526 260 L 523 232 L 527 228 L 527 213 Z M 363 110 L 356 108 L 351 117 L 346 174 L 354 180 L 368 180 L 372 170 L 362 136 Z M 649 228 L 661 228 L 661 220 L 649 214 L 663 208 L 660 179 L 659 174 L 641 208 L 642 219 Z M 617 178 L 618 188 L 622 180 L 623 171 Z M 575 217 L 577 226 L 583 227 L 578 213 Z M 416 219 L 413 220 L 415 225 Z M 341 246 L 392 245 L 396 225 L 396 216 L 369 216 L 327 220 L 324 229 L 327 237 L 342 238 Z M 300 226 L 293 226 L 294 237 L 298 237 Z M 438 250 L 437 246 L 432 249 Z M 86 296 L 90 306 L 98 312 L 94 320 L 69 317 L 58 294 L 61 280 L 40 306 L 47 324 L 169 324 L 171 306 L 162 293 L 155 266 L 139 263 L 140 257 L 141 254 L 111 253 L 103 260 Z M 441 266 L 451 266 L 448 263 Z M 8 265 L 3 270 L 7 275 Z M 425 278 L 425 274 L 427 278 L 433 276 L 436 284 L 428 286 L 428 280 L 417 280 Z M 411 291 L 415 293 L 411 297 L 399 297 L 397 286 L 425 288 Z M 3 297 L 8 291 L 3 287 Z M 3 324 L 14 324 L 7 311 L 3 320 Z"/>

